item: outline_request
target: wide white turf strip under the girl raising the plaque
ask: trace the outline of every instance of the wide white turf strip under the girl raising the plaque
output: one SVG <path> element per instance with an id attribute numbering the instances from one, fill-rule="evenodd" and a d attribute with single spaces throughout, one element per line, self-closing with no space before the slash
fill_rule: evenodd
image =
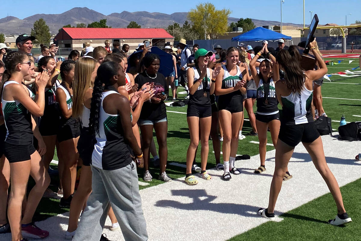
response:
<path id="1" fill-rule="evenodd" d="M 322 136 L 323 148 L 327 164 L 339 185 L 343 186 L 361 177 L 361 163 L 354 161 L 355 153 L 359 153 L 359 145 L 333 139 L 331 136 Z M 186 185 L 184 177 L 181 177 L 140 190 L 149 240 L 201 241 L 206 236 L 212 241 L 224 241 L 266 223 L 267 219 L 257 216 L 257 210 L 268 204 L 274 155 L 275 150 L 266 153 L 267 170 L 262 174 L 253 173 L 259 164 L 259 156 L 256 155 L 250 160 L 236 161 L 235 166 L 241 174 L 232 175 L 232 179 L 227 182 L 221 178 L 223 171 L 210 169 L 208 172 L 212 180 L 203 180 L 197 174 L 199 184 L 195 186 Z M 296 146 L 288 168 L 293 178 L 282 185 L 276 215 L 329 193 L 302 144 Z M 353 175 L 349 175 L 350 170 Z M 334 203 L 332 207 L 327 213 L 327 219 L 333 219 L 336 215 Z M 37 222 L 36 225 L 50 231 L 49 240 L 63 241 L 68 217 L 69 212 Z M 207 217 L 206 225 L 202 217 Z M 191 219 L 196 221 L 190 222 Z M 224 232 L 224 220 L 237 228 L 232 229 L 232 232 Z M 108 218 L 103 233 L 110 240 L 123 241 L 122 233 L 111 232 L 110 225 Z M 173 227 L 171 232 L 167 232 L 170 227 Z M 10 240 L 10 233 L 0 234 L 0 240 Z"/>

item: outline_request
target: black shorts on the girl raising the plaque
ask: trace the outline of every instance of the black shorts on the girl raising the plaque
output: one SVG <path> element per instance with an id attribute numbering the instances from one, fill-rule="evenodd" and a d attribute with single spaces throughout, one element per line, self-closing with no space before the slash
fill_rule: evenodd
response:
<path id="1" fill-rule="evenodd" d="M 297 146 L 300 142 L 311 143 L 319 137 L 314 122 L 298 125 L 282 125 L 278 138 L 289 146 Z"/>

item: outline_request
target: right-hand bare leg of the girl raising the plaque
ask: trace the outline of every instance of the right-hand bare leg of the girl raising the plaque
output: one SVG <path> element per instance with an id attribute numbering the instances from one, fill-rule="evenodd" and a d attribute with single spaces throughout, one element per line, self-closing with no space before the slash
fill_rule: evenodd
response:
<path id="1" fill-rule="evenodd" d="M 312 158 L 312 162 L 315 165 L 319 174 L 321 174 L 323 180 L 325 180 L 329 190 L 334 197 L 337 213 L 343 214 L 345 208 L 343 206 L 342 195 L 340 187 L 336 181 L 335 176 L 332 174 L 330 168 L 327 166 L 325 153 L 323 152 L 323 145 L 321 137 L 318 137 L 314 142 L 302 143 Z"/>

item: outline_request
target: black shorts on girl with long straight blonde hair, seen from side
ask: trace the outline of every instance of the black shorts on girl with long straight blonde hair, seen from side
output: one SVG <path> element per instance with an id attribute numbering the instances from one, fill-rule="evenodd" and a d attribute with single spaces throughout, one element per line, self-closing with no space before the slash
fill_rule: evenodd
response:
<path id="1" fill-rule="evenodd" d="M 94 145 L 92 145 L 93 136 L 88 127 L 83 127 L 78 140 L 78 152 L 83 160 L 83 165 L 90 166 L 91 156 L 93 154 Z"/>

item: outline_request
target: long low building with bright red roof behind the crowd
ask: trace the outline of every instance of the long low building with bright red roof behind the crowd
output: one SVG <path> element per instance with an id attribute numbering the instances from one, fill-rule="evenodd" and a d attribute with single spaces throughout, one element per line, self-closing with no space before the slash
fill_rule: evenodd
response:
<path id="1" fill-rule="evenodd" d="M 59 40 L 60 48 L 67 50 L 79 50 L 84 48 L 84 43 L 90 42 L 92 47 L 105 46 L 104 41 L 110 40 L 113 45 L 114 42 L 120 43 L 120 48 L 123 44 L 130 46 L 129 52 L 132 53 L 139 43 L 144 40 L 149 40 L 152 46 L 164 46 L 166 42 L 173 44 L 174 37 L 164 29 L 113 29 L 113 28 L 78 28 L 78 27 L 64 27 L 55 36 Z M 112 47 L 113 48 L 113 47 Z"/>

